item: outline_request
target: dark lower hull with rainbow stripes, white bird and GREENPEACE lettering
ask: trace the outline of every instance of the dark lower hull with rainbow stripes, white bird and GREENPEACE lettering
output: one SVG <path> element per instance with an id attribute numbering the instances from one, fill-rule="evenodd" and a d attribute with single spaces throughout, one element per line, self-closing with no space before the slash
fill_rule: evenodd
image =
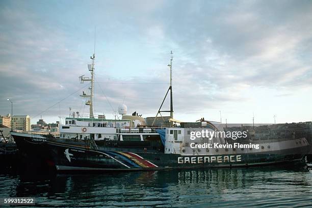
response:
<path id="1" fill-rule="evenodd" d="M 301 161 L 307 146 L 262 154 L 180 155 L 92 150 L 87 146 L 13 135 L 24 156 L 57 171 L 142 171 L 171 168 L 218 168 L 272 165 Z"/>

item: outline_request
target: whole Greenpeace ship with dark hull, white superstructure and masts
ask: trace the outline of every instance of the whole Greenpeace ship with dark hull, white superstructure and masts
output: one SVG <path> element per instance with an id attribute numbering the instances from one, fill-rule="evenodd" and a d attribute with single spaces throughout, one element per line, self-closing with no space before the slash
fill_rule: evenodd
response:
<path id="1" fill-rule="evenodd" d="M 36 161 L 57 171 L 74 172 L 246 167 L 300 162 L 310 150 L 306 135 L 274 124 L 228 126 L 204 118 L 196 122 L 175 120 L 171 76 L 173 56 L 168 64 L 170 86 L 155 117 L 143 118 L 137 112 L 127 115 L 124 104 L 119 106 L 119 115 L 114 119 L 96 116 L 93 114 L 95 53 L 90 58 L 92 64 L 88 65 L 88 70 L 91 77 L 80 76 L 81 83 L 90 82 L 89 92 L 81 95 L 87 99 L 89 115 L 72 112 L 60 124 L 59 136 L 11 132 L 24 161 Z M 170 96 L 170 110 L 162 110 L 167 96 Z M 162 112 L 169 112 L 170 116 L 163 116 Z M 239 139 L 225 135 L 192 137 L 196 132 L 237 131 L 248 134 Z"/>

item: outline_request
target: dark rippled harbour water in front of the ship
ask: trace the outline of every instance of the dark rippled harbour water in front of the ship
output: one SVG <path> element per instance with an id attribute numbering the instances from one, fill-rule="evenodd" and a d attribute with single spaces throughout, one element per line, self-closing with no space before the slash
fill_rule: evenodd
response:
<path id="1" fill-rule="evenodd" d="M 312 207 L 312 164 L 90 175 L 2 172 L 0 197 L 34 197 L 36 207 Z"/>

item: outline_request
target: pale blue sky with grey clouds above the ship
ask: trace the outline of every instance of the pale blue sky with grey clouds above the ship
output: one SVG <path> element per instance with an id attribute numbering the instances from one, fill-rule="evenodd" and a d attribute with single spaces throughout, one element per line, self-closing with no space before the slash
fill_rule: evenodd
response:
<path id="1" fill-rule="evenodd" d="M 154 116 L 169 86 L 181 121 L 312 119 L 311 1 L 0 1 L 0 114 L 47 122 L 88 114 Z M 167 108 L 166 108 L 167 107 Z M 169 109 L 165 103 L 164 110 Z"/>

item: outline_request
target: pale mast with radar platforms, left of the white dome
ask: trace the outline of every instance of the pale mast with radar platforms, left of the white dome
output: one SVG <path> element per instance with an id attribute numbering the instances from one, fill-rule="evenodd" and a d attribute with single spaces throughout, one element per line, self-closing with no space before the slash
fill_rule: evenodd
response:
<path id="1" fill-rule="evenodd" d="M 81 97 L 90 99 L 90 100 L 88 100 L 86 102 L 86 105 L 90 106 L 90 118 L 94 118 L 94 115 L 93 115 L 93 88 L 94 88 L 94 60 L 95 60 L 95 53 L 93 53 L 93 55 L 90 56 L 90 58 L 92 60 L 92 64 L 91 65 L 88 64 L 88 69 L 91 72 L 91 79 L 89 77 L 85 77 L 85 75 L 82 75 L 79 78 L 80 78 L 80 82 L 81 83 L 84 83 L 85 81 L 90 81 L 91 82 L 91 85 L 89 87 L 90 95 L 88 95 L 85 92 L 83 92 Z"/>

